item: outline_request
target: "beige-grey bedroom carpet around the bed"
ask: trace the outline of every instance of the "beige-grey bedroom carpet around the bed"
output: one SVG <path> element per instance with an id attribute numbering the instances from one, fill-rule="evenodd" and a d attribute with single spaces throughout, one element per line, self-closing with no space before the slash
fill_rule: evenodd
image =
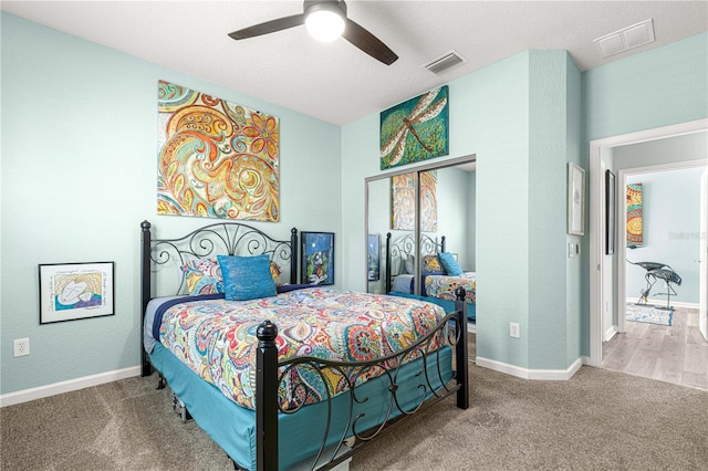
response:
<path id="1" fill-rule="evenodd" d="M 706 470 L 708 391 L 583 367 L 530 381 L 470 365 L 470 409 L 448 398 L 352 470 Z M 173 414 L 156 377 L 0 409 L 4 470 L 229 470 Z"/>

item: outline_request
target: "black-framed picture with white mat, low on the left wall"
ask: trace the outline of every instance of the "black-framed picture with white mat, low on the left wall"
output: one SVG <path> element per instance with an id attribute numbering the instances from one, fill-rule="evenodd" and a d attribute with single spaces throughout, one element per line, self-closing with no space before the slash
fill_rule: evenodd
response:
<path id="1" fill-rule="evenodd" d="M 40 324 L 114 315 L 114 262 L 40 264 Z"/>

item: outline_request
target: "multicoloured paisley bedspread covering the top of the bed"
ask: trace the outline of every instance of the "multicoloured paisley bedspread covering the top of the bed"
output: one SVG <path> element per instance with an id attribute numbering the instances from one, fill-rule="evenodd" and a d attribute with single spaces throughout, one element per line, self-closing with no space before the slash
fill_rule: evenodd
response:
<path id="1" fill-rule="evenodd" d="M 313 356 L 356 362 L 409 346 L 431 332 L 444 316 L 445 311 L 430 303 L 314 287 L 252 301 L 220 299 L 176 304 L 163 315 L 159 342 L 226 397 L 253 408 L 256 329 L 264 320 L 278 325 L 280 360 Z M 382 373 L 381 368 L 358 371 L 356 384 Z M 336 390 L 330 387 L 331 395 L 346 389 L 345 381 L 333 379 L 329 383 L 336 385 Z M 288 387 L 293 381 L 304 381 L 306 387 L 293 393 Z M 324 387 L 312 370 L 291 371 L 281 383 L 281 404 L 289 408 L 322 400 L 327 395 Z"/>

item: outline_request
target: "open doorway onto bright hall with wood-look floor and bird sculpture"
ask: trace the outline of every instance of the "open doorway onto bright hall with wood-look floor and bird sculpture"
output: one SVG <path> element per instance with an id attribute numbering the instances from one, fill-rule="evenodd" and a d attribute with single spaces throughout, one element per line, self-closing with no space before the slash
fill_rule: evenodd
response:
<path id="1" fill-rule="evenodd" d="M 685 155 L 687 146 L 681 144 L 696 139 L 705 137 L 694 134 L 665 139 L 662 146 L 646 143 L 620 148 L 614 153 L 614 165 L 622 167 L 622 157 L 631 159 L 632 153 L 650 155 L 652 146 Z M 603 368 L 708 390 L 708 342 L 698 331 L 697 263 L 700 176 L 706 165 L 693 160 L 617 170 L 616 212 L 621 216 L 617 276 L 612 279 L 617 303 L 612 336 L 603 343 Z M 631 195 L 636 197 L 638 191 L 644 197 L 639 199 L 643 224 L 633 226 L 628 237 L 623 208 L 626 185 L 632 185 Z M 662 273 L 676 273 L 681 281 L 673 283 L 670 297 L 662 279 L 649 275 L 647 280 L 654 264 L 666 265 Z M 650 281 L 654 284 L 647 291 Z M 644 292 L 646 296 L 641 297 Z"/>

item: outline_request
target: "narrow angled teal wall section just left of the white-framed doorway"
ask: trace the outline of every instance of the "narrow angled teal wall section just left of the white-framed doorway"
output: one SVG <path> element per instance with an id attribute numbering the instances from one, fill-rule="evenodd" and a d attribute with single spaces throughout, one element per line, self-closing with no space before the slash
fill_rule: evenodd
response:
<path id="1" fill-rule="evenodd" d="M 581 75 L 565 51 L 531 51 L 531 59 L 528 367 L 565 369 L 580 356 L 580 331 L 570 325 L 579 325 L 581 310 L 566 304 L 566 276 L 581 266 L 566 255 L 565 209 L 568 161 L 580 157 L 579 143 L 570 146 L 568 136 L 580 129 L 580 109 L 571 104 Z"/>

